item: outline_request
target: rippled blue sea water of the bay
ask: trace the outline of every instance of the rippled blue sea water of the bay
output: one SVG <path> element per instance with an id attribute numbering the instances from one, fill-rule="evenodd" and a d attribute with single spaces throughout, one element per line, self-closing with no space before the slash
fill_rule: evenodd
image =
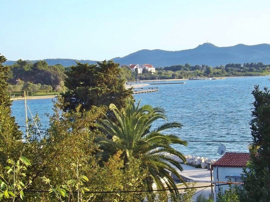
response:
<path id="1" fill-rule="evenodd" d="M 270 86 L 270 77 L 242 77 L 219 80 L 185 81 L 185 84 L 150 85 L 158 92 L 134 95 L 141 104 L 161 106 L 166 111 L 167 121 L 178 121 L 182 129 L 170 129 L 183 140 L 199 141 L 251 141 L 251 95 L 254 85 L 261 89 Z M 162 83 L 162 82 L 161 82 Z M 166 82 L 168 83 L 168 82 Z M 173 83 L 173 82 L 171 82 Z M 45 113 L 53 113 L 52 100 L 27 100 L 32 114 L 39 114 L 43 128 L 48 127 Z M 24 101 L 15 100 L 12 114 L 19 125 L 25 123 Z M 30 117 L 30 114 L 28 114 Z M 163 122 L 158 121 L 156 124 Z M 154 126 L 153 126 L 154 127 Z M 22 129 L 23 130 L 23 129 Z M 248 143 L 188 142 L 188 147 L 175 146 L 184 154 L 218 159 L 218 147 L 224 144 L 227 152 L 248 152 Z"/>

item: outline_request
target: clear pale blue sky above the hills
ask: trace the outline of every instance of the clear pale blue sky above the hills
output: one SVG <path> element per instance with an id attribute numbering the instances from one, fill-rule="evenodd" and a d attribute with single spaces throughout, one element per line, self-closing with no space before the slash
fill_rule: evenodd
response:
<path id="1" fill-rule="evenodd" d="M 207 40 L 270 44 L 269 0 L 9 0 L 0 8 L 0 53 L 8 60 L 104 60 Z"/>

